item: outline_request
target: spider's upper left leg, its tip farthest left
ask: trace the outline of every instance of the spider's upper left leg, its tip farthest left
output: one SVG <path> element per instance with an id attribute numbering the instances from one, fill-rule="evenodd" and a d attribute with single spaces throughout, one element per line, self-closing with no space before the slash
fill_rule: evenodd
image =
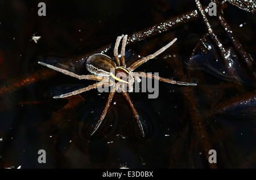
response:
<path id="1" fill-rule="evenodd" d="M 59 68 L 59 67 L 56 67 L 56 66 L 52 66 L 52 65 L 48 65 L 47 63 L 44 63 L 44 62 L 38 62 L 40 65 L 43 65 L 43 66 L 46 66 L 48 68 L 51 68 L 55 71 L 58 71 L 58 72 L 62 72 L 63 74 L 65 75 L 69 75 L 69 76 L 72 76 L 72 77 L 75 77 L 77 79 L 89 79 L 89 80 L 97 80 L 97 81 L 101 81 L 101 80 L 104 80 L 106 77 L 104 76 L 94 76 L 94 75 L 77 75 L 75 74 L 74 72 L 71 72 L 71 71 L 68 71 L 68 70 L 64 70 L 62 68 Z"/>

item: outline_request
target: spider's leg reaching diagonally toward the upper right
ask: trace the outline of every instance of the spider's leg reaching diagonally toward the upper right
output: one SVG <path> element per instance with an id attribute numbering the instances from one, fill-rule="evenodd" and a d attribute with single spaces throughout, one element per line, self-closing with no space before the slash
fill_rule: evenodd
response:
<path id="1" fill-rule="evenodd" d="M 166 49 L 168 49 L 174 42 L 177 40 L 177 38 L 174 38 L 171 42 L 169 42 L 167 45 L 163 46 L 163 48 L 159 49 L 154 54 L 150 54 L 147 57 L 144 57 L 142 59 L 139 59 L 138 61 L 134 62 L 133 65 L 131 65 L 129 68 L 127 68 L 128 71 L 134 71 L 135 68 L 141 66 L 143 63 L 147 62 L 149 59 L 155 58 L 159 54 L 163 53 Z"/>

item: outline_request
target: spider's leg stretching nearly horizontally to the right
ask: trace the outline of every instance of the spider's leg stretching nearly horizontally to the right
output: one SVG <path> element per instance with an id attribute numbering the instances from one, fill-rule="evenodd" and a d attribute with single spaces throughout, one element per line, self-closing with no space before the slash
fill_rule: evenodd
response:
<path id="1" fill-rule="evenodd" d="M 148 74 L 148 73 L 145 73 L 145 72 L 131 72 L 131 75 L 134 76 L 134 77 L 144 77 L 144 78 L 157 79 L 157 80 L 160 80 L 162 82 L 171 83 L 171 84 L 197 85 L 196 83 L 177 82 L 176 80 L 162 78 L 160 76 L 156 76 L 154 74 Z"/>

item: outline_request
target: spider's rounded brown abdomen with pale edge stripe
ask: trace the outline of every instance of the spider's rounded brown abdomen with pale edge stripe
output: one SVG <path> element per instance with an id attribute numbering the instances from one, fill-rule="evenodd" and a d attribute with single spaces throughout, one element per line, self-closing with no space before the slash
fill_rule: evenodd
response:
<path id="1" fill-rule="evenodd" d="M 109 76 L 115 69 L 115 62 L 108 55 L 93 54 L 86 61 L 87 70 L 93 75 Z"/>

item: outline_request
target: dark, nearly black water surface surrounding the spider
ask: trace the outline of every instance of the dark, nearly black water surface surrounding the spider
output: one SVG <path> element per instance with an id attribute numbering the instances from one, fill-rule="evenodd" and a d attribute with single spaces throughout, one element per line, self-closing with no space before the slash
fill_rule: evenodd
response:
<path id="1" fill-rule="evenodd" d="M 153 99 L 148 93 L 129 93 L 144 138 L 117 93 L 90 136 L 109 93 L 95 89 L 53 99 L 94 82 L 37 62 L 88 73 L 81 61 L 86 54 L 104 50 L 117 36 L 195 10 L 195 2 L 45 2 L 46 16 L 38 16 L 38 1 L 0 2 L 1 168 L 256 168 L 255 62 L 249 66 L 243 60 L 216 18 L 210 23 L 230 52 L 230 64 L 206 35 L 201 17 L 127 45 L 130 63 L 177 37 L 170 49 L 137 70 L 197 86 L 159 82 L 159 96 Z M 224 18 L 255 59 L 255 15 L 229 4 Z M 40 36 L 37 43 L 32 36 Z M 107 54 L 113 55 L 113 49 Z M 39 164 L 39 149 L 46 151 L 46 163 Z M 216 164 L 208 162 L 210 149 L 217 152 Z"/>

